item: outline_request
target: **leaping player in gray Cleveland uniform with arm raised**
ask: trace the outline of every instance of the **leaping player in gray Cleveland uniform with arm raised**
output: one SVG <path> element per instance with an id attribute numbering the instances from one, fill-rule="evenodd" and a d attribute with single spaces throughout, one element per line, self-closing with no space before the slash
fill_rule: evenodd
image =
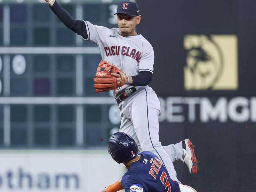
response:
<path id="1" fill-rule="evenodd" d="M 186 139 L 177 144 L 162 146 L 159 141 L 158 116 L 160 102 L 148 84 L 153 76 L 154 50 L 151 44 L 135 31 L 140 23 L 138 5 L 132 1 L 118 4 L 118 28 L 93 25 L 76 20 L 55 0 L 45 0 L 52 11 L 72 31 L 98 45 L 103 60 L 116 65 L 127 76 L 125 85 L 114 94 L 121 110 L 120 132 L 126 132 L 136 141 L 139 151 L 148 150 L 159 156 L 170 177 L 177 180 L 172 162 L 179 159 L 188 165 L 190 173 L 197 172 L 194 146 Z M 112 74 L 120 81 L 120 75 Z"/>

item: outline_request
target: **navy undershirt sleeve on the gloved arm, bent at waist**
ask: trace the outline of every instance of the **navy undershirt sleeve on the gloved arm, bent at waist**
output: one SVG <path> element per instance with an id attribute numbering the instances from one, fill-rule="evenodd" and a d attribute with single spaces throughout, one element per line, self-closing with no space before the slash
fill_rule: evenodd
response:
<path id="1" fill-rule="evenodd" d="M 141 71 L 140 74 L 132 76 L 132 84 L 133 86 L 142 86 L 148 85 L 153 77 L 153 73 L 149 71 Z"/>

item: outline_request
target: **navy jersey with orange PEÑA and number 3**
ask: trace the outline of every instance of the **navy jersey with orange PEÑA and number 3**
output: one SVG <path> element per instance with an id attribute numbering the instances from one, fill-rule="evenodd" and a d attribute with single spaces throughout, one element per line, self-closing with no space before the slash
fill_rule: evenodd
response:
<path id="1" fill-rule="evenodd" d="M 170 178 L 154 153 L 143 151 L 139 155 L 122 177 L 125 192 L 180 192 L 178 182 Z"/>

